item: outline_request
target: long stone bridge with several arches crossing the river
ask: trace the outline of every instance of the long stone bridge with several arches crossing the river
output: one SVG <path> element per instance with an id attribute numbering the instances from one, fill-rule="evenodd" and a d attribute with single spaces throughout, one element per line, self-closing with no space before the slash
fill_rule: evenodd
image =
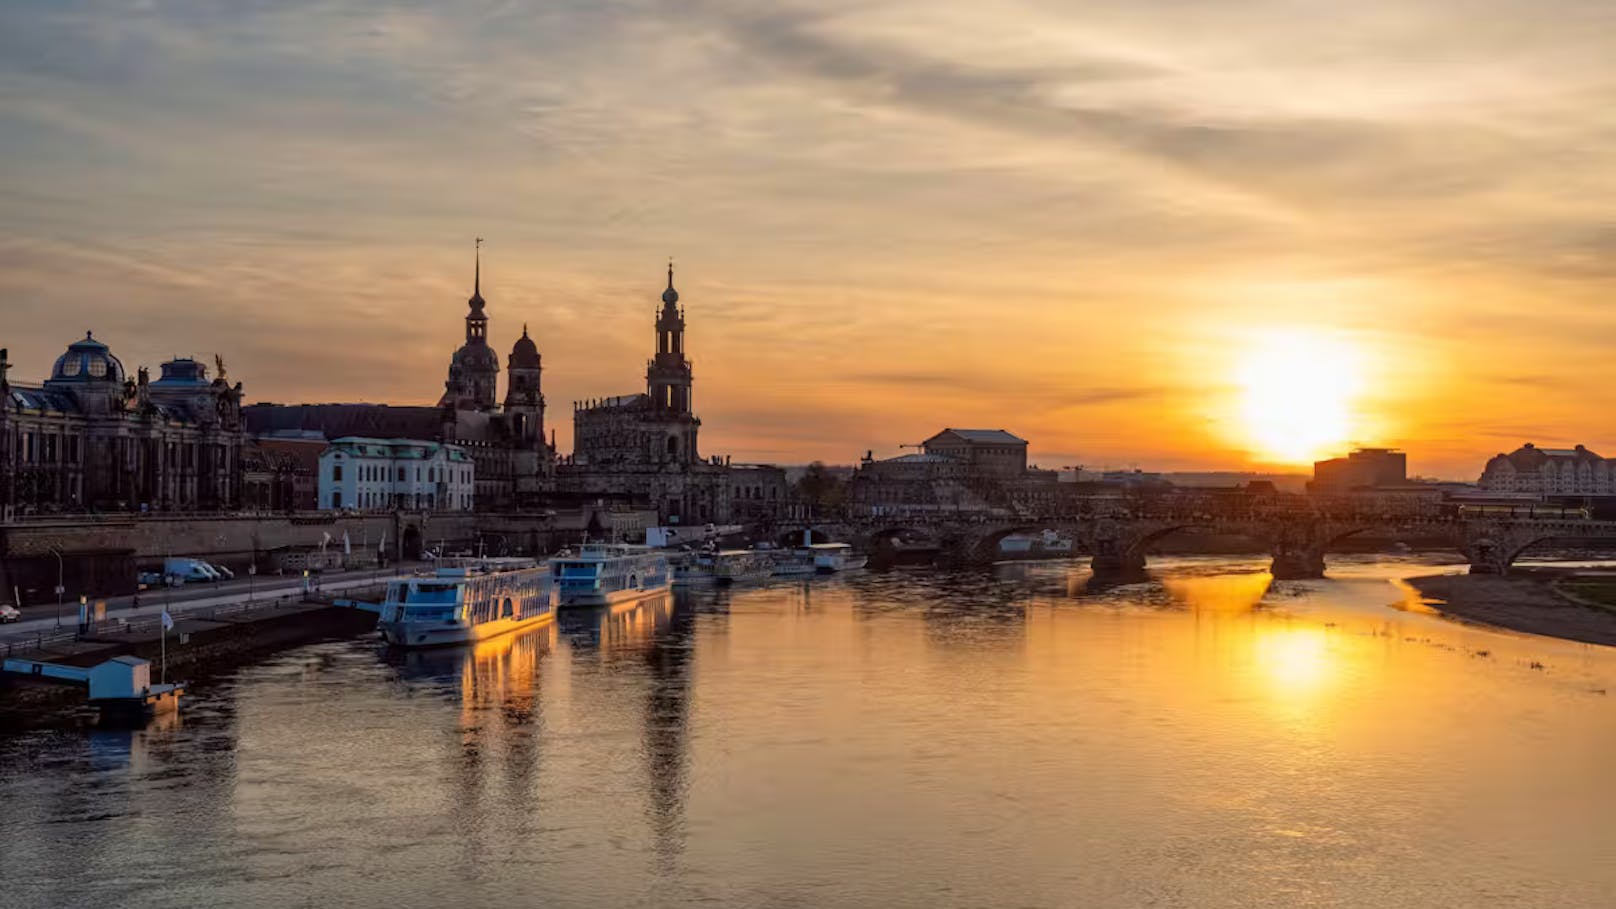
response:
<path id="1" fill-rule="evenodd" d="M 897 539 L 924 539 L 939 558 L 955 563 L 991 563 L 999 543 L 1012 534 L 1055 531 L 1091 558 L 1096 574 L 1144 571 L 1151 547 L 1181 531 L 1209 531 L 1252 540 L 1273 558 L 1280 579 L 1324 577 L 1325 555 L 1343 540 L 1369 531 L 1445 539 L 1462 553 L 1475 574 L 1506 574 L 1516 558 L 1540 543 L 1616 545 L 1616 521 L 1454 518 L 1438 514 L 1159 514 L 1159 516 L 1052 516 L 989 521 L 958 519 L 863 519 L 818 526 L 819 535 L 852 542 L 868 552 L 890 548 Z"/>

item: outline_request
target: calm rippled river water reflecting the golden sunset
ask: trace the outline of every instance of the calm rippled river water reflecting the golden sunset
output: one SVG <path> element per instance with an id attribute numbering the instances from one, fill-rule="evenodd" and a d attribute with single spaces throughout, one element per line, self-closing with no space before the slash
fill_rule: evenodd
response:
<path id="1" fill-rule="evenodd" d="M 1616 906 L 1616 650 L 1332 569 L 863 573 L 309 645 L 162 728 L 0 741 L 0 903 Z"/>

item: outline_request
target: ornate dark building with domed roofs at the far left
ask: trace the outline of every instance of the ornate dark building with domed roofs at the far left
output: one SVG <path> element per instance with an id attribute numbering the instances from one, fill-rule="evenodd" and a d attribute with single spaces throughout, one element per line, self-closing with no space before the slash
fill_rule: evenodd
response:
<path id="1" fill-rule="evenodd" d="M 90 332 L 40 385 L 0 349 L 0 511 L 213 511 L 241 501 L 241 383 L 187 357 L 150 382 Z"/>

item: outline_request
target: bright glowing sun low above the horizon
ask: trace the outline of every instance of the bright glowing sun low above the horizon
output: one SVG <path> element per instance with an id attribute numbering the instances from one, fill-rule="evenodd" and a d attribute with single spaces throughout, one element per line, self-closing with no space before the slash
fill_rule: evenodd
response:
<path id="1" fill-rule="evenodd" d="M 1243 442 L 1257 456 L 1304 464 L 1338 453 L 1354 437 L 1362 357 L 1345 336 L 1265 333 L 1236 369 Z"/>

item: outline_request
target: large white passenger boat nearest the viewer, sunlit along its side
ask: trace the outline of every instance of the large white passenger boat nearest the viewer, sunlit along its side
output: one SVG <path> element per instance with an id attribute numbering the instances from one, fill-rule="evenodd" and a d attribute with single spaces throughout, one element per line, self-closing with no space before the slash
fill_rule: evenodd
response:
<path id="1" fill-rule="evenodd" d="M 388 581 L 377 629 L 399 647 L 467 644 L 556 618 L 549 568 L 528 558 L 482 558 Z"/>

